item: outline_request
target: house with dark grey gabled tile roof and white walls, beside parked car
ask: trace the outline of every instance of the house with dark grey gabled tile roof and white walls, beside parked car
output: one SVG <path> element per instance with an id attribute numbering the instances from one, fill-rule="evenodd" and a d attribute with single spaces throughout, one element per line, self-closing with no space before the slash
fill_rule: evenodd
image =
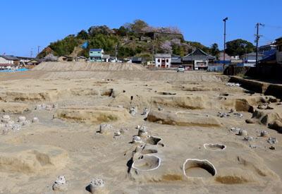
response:
<path id="1" fill-rule="evenodd" d="M 214 63 L 215 56 L 206 54 L 201 49 L 195 49 L 192 53 L 183 57 L 183 66 L 188 70 L 207 70 L 209 63 Z"/>

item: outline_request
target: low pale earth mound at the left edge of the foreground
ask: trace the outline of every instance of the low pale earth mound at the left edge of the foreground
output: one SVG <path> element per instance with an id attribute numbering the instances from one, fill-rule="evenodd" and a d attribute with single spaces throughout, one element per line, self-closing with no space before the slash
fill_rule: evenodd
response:
<path id="1" fill-rule="evenodd" d="M 0 170 L 37 172 L 64 166 L 68 152 L 50 145 L 0 146 Z"/>

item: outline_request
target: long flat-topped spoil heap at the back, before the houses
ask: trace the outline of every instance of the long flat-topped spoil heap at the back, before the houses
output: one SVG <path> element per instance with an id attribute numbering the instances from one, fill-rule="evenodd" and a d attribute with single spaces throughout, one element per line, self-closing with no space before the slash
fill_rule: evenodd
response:
<path id="1" fill-rule="evenodd" d="M 32 71 L 145 71 L 146 68 L 135 63 L 106 63 L 92 61 L 43 62 Z"/>

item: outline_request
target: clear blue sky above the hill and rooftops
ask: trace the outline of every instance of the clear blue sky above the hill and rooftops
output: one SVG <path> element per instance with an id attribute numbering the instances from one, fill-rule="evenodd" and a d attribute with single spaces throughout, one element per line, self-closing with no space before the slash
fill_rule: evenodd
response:
<path id="1" fill-rule="evenodd" d="M 135 19 L 151 26 L 178 26 L 185 40 L 223 49 L 223 18 L 226 42 L 243 39 L 255 44 L 256 23 L 263 35 L 259 45 L 282 37 L 282 1 L 143 0 L 143 1 L 2 1 L 0 55 L 30 56 L 37 47 L 47 47 L 94 25 L 119 28 Z M 40 48 L 42 50 L 42 48 Z"/>

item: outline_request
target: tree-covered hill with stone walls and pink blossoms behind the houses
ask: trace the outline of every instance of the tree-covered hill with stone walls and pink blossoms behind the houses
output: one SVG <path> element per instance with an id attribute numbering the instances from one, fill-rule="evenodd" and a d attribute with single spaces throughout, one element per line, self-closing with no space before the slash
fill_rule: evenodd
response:
<path id="1" fill-rule="evenodd" d="M 87 42 L 87 47 L 80 47 Z M 87 31 L 81 30 L 77 35 L 68 35 L 63 40 L 51 42 L 37 57 L 52 53 L 56 56 L 86 56 L 89 49 L 102 48 L 105 54 L 118 57 L 142 56 L 145 61 L 152 59 L 155 53 L 171 53 L 180 56 L 189 54 L 195 48 L 209 51 L 199 42 L 185 41 L 177 27 L 166 28 L 149 26 L 145 21 L 134 20 L 120 28 L 92 26 Z"/>

